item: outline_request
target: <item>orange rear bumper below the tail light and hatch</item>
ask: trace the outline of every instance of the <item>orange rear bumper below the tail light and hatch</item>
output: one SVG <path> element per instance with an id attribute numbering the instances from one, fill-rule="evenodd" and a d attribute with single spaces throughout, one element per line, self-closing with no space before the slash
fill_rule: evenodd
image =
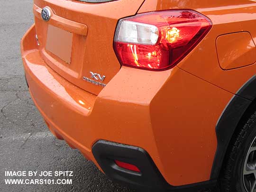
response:
<path id="1" fill-rule="evenodd" d="M 33 25 L 21 41 L 25 74 L 31 97 L 57 138 L 99 168 L 92 146 L 106 140 L 147 151 L 168 185 L 210 179 L 215 125 L 232 94 L 178 67 L 161 72 L 122 67 L 96 96 L 48 67 L 35 35 Z"/>

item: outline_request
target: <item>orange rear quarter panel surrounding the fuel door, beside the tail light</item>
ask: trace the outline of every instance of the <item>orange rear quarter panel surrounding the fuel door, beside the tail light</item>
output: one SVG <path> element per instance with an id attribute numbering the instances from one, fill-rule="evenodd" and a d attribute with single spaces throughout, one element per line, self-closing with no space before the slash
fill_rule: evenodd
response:
<path id="1" fill-rule="evenodd" d="M 138 13 L 168 9 L 196 10 L 209 17 L 213 25 L 178 67 L 232 93 L 255 75 L 255 63 L 237 69 L 221 69 L 216 51 L 216 39 L 222 34 L 247 31 L 256 42 L 255 0 L 146 0 Z"/>

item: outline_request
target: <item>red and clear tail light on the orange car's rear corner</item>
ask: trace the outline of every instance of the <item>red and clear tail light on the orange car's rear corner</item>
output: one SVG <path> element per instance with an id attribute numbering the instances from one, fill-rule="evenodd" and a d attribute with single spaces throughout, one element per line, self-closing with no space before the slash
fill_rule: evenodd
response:
<path id="1" fill-rule="evenodd" d="M 138 14 L 119 20 L 114 50 L 123 66 L 174 67 L 209 32 L 210 20 L 192 10 Z"/>

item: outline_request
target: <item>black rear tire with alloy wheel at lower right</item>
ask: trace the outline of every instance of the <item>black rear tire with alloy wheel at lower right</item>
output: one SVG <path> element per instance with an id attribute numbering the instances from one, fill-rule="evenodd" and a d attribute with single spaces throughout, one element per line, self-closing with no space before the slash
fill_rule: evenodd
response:
<path id="1" fill-rule="evenodd" d="M 221 192 L 256 192 L 256 112 L 244 119 L 234 134 L 220 178 Z M 251 151 L 251 152 L 250 152 Z M 255 183 L 254 183 L 255 182 Z"/>

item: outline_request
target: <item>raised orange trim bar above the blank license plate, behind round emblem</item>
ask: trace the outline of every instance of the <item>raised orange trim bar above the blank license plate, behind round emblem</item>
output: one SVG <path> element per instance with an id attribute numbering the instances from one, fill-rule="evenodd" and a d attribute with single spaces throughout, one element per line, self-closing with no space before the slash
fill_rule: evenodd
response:
<path id="1" fill-rule="evenodd" d="M 51 19 L 49 21 L 47 21 L 47 23 L 49 25 L 54 25 L 55 27 L 61 28 L 65 31 L 69 31 L 71 33 L 81 34 L 84 36 L 87 35 L 87 33 L 88 33 L 87 25 L 77 23 L 75 21 L 71 21 L 69 19 L 57 16 L 51 8 L 49 8 L 49 9 L 51 10 L 51 14 L 52 14 Z M 34 4 L 33 11 L 34 11 L 35 17 L 43 20 L 43 18 L 41 17 L 42 8 L 39 8 Z"/>

